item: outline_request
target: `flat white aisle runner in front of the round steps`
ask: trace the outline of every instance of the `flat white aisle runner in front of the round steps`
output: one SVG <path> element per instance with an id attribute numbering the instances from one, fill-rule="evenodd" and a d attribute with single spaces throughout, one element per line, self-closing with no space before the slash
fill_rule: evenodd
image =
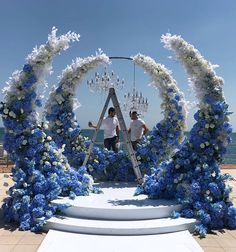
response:
<path id="1" fill-rule="evenodd" d="M 111 236 L 50 230 L 38 252 L 202 252 L 189 231 Z"/>

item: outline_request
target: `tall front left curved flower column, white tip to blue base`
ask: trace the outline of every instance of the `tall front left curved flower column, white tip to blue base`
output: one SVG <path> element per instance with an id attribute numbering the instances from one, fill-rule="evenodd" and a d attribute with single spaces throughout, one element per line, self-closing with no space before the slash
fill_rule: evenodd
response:
<path id="1" fill-rule="evenodd" d="M 37 231 L 57 209 L 50 202 L 59 195 L 87 195 L 92 190 L 92 178 L 81 168 L 70 168 L 62 151 L 45 133 L 38 121 L 36 107 L 42 105 L 36 90 L 50 72 L 53 57 L 78 41 L 79 35 L 68 32 L 56 36 L 56 29 L 48 42 L 27 57 L 22 71 L 13 73 L 0 113 L 5 126 L 4 148 L 14 162 L 15 184 L 3 205 L 8 221 L 16 221 L 20 229 Z"/>

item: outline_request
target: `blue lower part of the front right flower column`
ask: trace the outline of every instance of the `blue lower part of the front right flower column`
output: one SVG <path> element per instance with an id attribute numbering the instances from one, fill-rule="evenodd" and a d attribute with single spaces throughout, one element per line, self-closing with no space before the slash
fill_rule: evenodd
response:
<path id="1" fill-rule="evenodd" d="M 194 115 L 196 124 L 189 140 L 171 160 L 162 162 L 145 177 L 144 190 L 152 198 L 177 199 L 184 217 L 200 220 L 196 231 L 205 236 L 210 229 L 236 228 L 236 208 L 230 201 L 232 179 L 219 165 L 231 141 L 225 101 L 204 98 Z"/>

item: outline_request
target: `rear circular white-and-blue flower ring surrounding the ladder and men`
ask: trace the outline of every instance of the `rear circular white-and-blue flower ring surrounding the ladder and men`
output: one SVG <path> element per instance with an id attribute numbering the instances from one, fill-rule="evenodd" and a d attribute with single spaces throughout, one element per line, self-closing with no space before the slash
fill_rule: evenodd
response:
<path id="1" fill-rule="evenodd" d="M 153 86 L 163 99 L 164 119 L 156 125 L 146 141 L 138 148 L 137 157 L 143 173 L 150 173 L 153 164 L 170 158 L 180 147 L 186 126 L 186 106 L 182 92 L 177 88 L 170 72 L 150 57 L 138 54 L 134 62 L 143 67 L 153 80 Z M 73 109 L 77 103 L 75 89 L 89 70 L 99 64 L 109 63 L 109 58 L 99 51 L 95 57 L 77 58 L 62 73 L 46 103 L 45 118 L 49 134 L 74 167 L 83 163 L 89 141 L 82 136 Z M 134 180 L 132 164 L 126 152 L 114 153 L 94 147 L 88 169 L 95 179 Z"/>

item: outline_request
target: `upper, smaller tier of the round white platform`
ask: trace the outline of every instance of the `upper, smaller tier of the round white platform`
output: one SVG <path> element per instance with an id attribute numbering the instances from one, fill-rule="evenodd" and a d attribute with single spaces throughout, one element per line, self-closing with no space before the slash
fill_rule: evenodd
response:
<path id="1" fill-rule="evenodd" d="M 143 220 L 169 217 L 181 210 L 181 205 L 170 200 L 151 200 L 146 195 L 134 196 L 135 185 L 102 183 L 103 194 L 68 197 L 54 200 L 54 204 L 70 204 L 63 214 L 70 217 L 109 220 Z"/>

